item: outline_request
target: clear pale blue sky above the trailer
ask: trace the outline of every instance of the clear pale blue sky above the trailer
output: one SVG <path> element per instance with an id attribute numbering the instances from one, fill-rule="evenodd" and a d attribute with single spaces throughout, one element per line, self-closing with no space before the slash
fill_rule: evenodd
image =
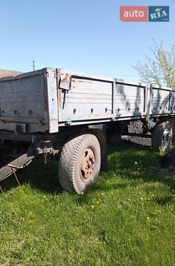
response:
<path id="1" fill-rule="evenodd" d="M 0 69 L 71 71 L 139 80 L 152 38 L 175 41 L 174 0 L 0 0 Z M 169 6 L 170 22 L 121 22 L 119 6 Z"/>

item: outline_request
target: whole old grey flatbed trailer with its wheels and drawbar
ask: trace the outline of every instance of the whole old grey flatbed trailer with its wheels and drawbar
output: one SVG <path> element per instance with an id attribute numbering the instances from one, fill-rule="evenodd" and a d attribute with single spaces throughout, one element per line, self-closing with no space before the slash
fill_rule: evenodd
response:
<path id="1" fill-rule="evenodd" d="M 20 168 L 36 155 L 59 154 L 62 188 L 82 194 L 106 168 L 106 142 L 128 134 L 131 121 L 141 121 L 141 136 L 151 133 L 155 150 L 174 143 L 174 97 L 170 87 L 63 69 L 0 78 L 1 157 L 20 156 Z M 18 169 L 5 167 L 0 181 Z"/>

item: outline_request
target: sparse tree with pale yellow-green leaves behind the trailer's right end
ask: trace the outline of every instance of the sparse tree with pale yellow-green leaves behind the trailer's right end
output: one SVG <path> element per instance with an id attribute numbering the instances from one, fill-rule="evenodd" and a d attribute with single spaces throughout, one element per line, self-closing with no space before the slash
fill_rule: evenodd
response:
<path id="1" fill-rule="evenodd" d="M 163 41 L 158 45 L 153 40 L 153 47 L 150 48 L 153 57 L 146 56 L 146 62 L 137 62 L 134 69 L 139 73 L 144 83 L 157 84 L 160 87 L 175 87 L 175 42 L 172 48 L 167 51 L 163 48 Z"/>

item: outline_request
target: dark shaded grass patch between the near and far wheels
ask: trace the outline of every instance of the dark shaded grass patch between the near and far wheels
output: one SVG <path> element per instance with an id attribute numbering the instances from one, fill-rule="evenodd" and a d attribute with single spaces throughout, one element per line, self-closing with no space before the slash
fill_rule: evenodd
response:
<path id="1" fill-rule="evenodd" d="M 174 195 L 175 177 L 160 174 L 160 158 L 160 153 L 151 151 L 151 147 L 133 144 L 130 141 L 118 148 L 109 147 L 109 169 L 118 174 L 120 179 L 160 182 L 167 186 Z M 134 182 L 133 186 L 136 184 Z M 161 198 L 158 203 L 167 204 L 171 199 L 172 197 Z"/>

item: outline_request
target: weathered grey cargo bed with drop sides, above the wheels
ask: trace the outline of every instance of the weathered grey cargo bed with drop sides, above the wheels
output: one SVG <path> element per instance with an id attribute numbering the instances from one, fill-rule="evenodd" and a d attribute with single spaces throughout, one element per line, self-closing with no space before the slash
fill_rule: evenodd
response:
<path id="1" fill-rule="evenodd" d="M 59 127 L 174 116 L 175 91 L 45 68 L 0 78 L 0 130 L 56 133 Z"/>

